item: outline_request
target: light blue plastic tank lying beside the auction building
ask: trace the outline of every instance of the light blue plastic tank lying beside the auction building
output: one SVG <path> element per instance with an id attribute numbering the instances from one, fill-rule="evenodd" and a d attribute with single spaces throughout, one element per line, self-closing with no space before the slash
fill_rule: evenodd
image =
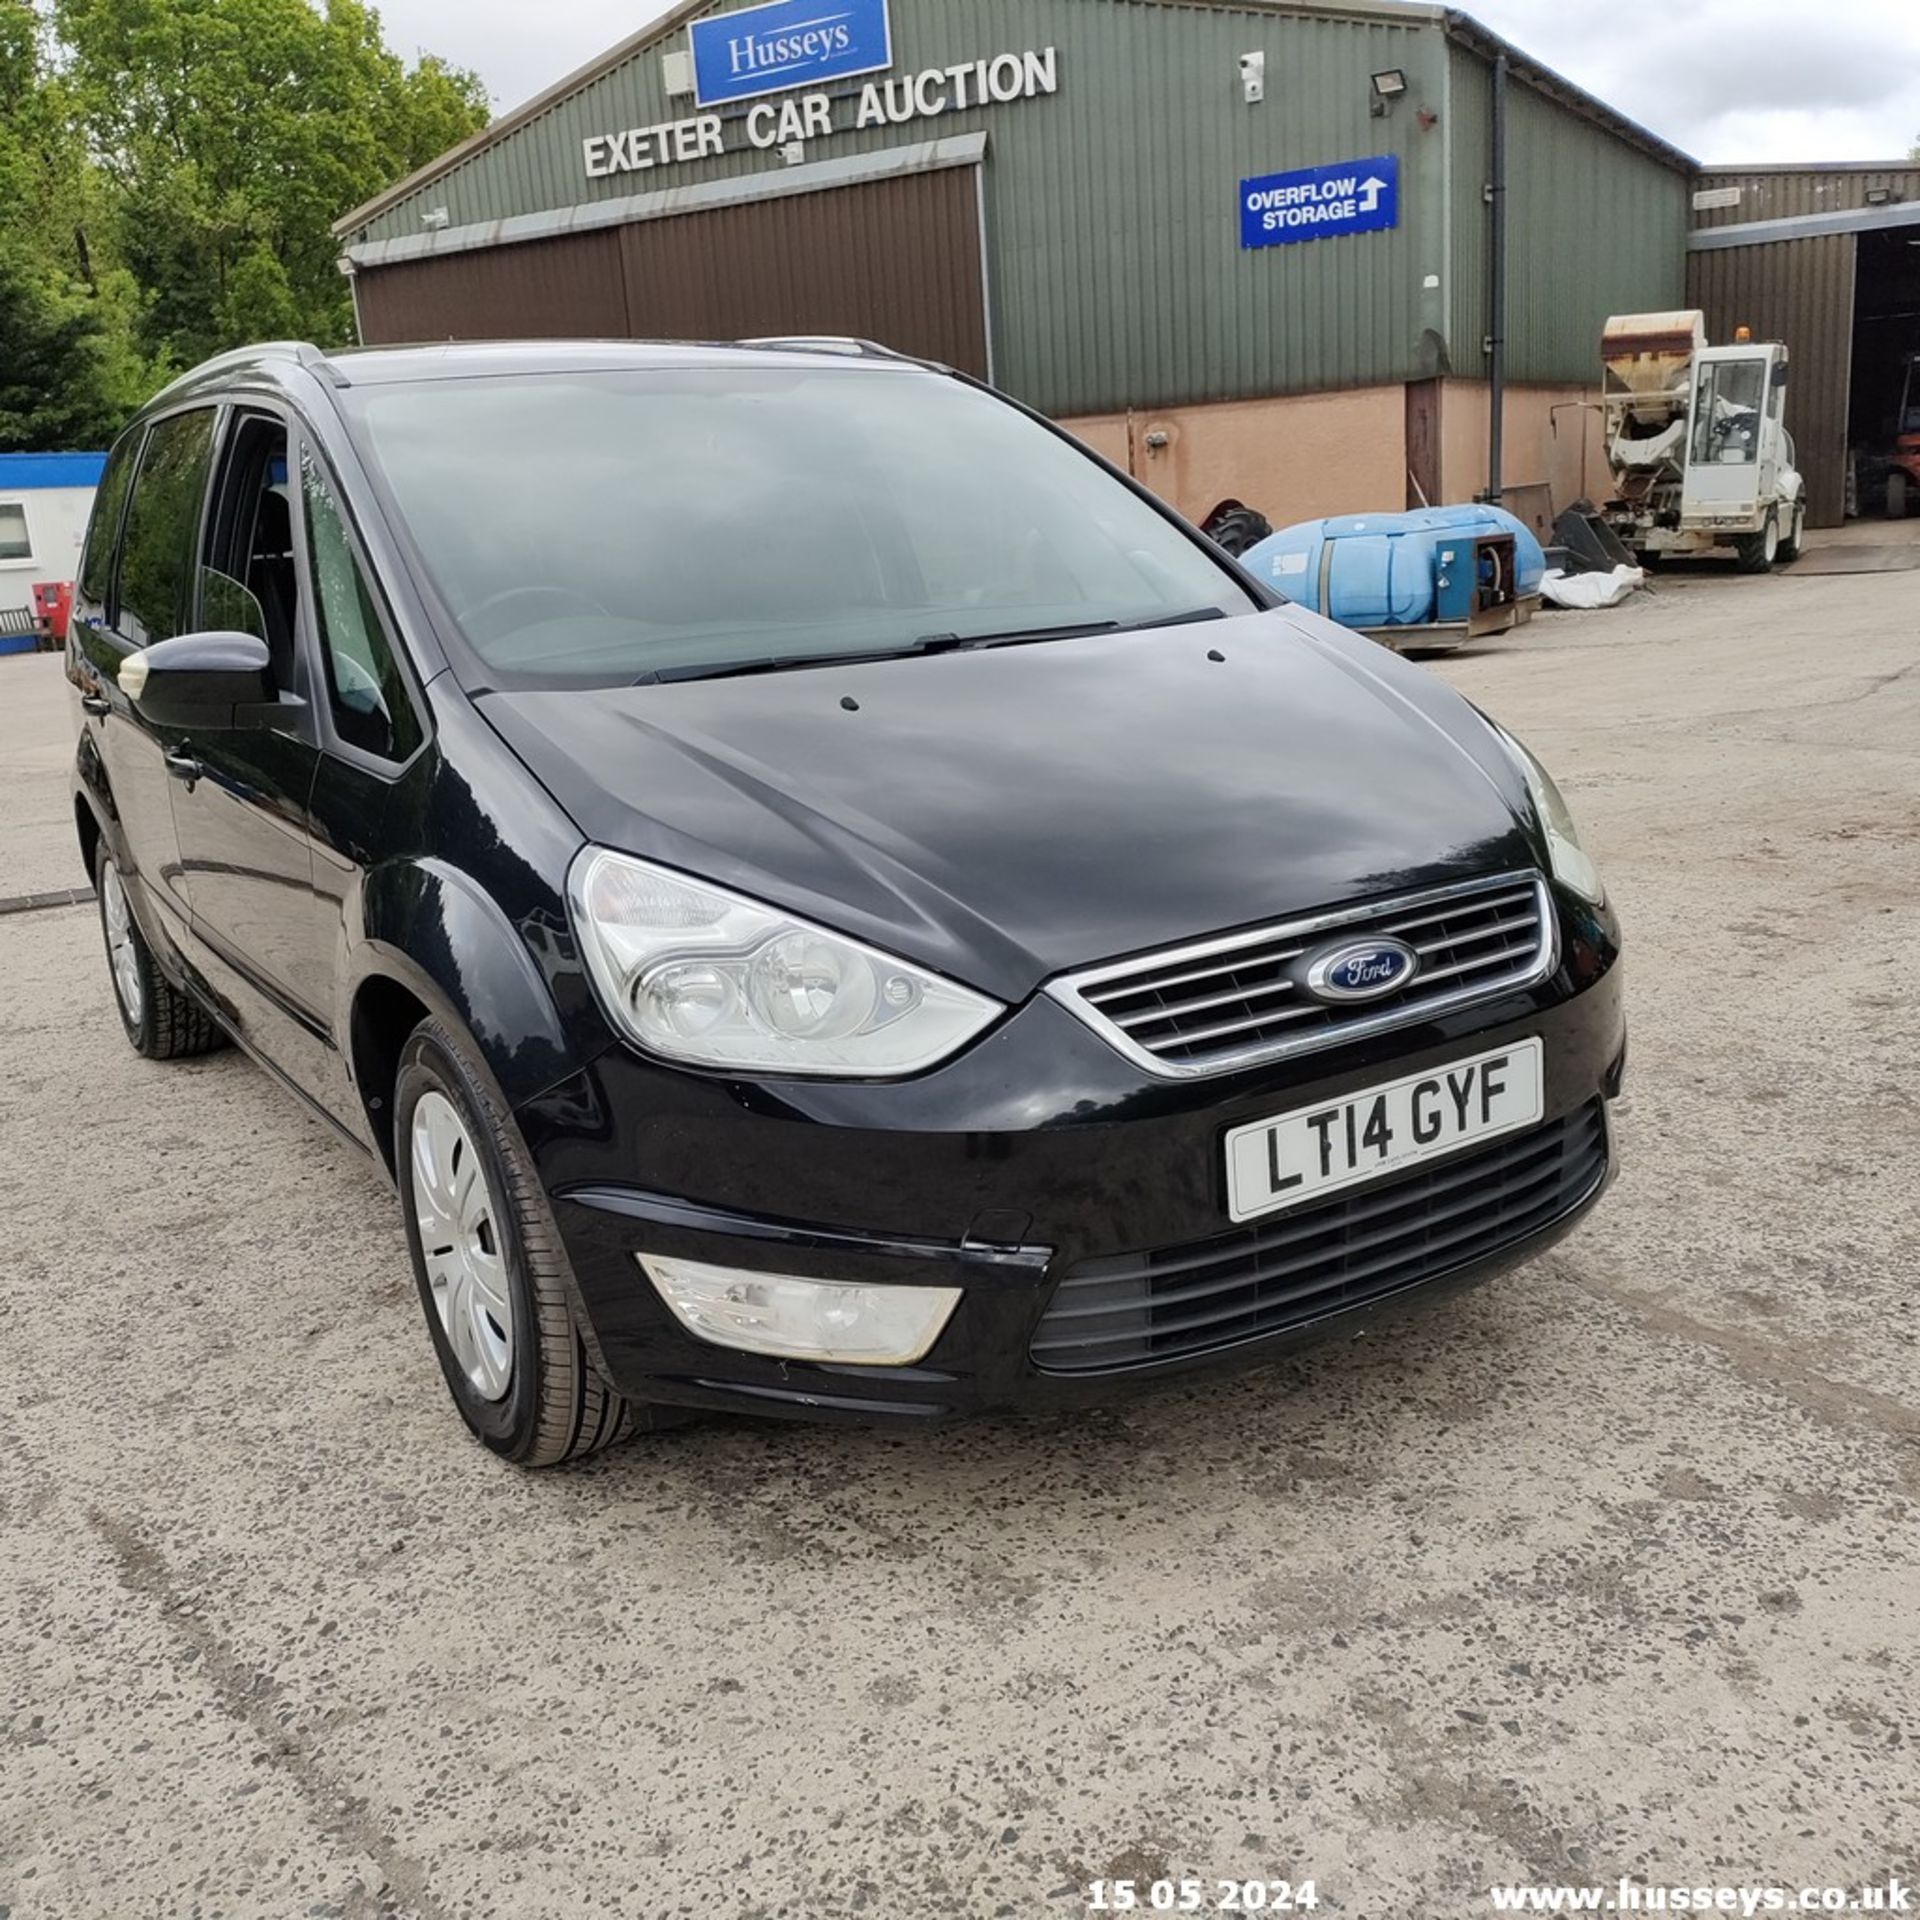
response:
<path id="1" fill-rule="evenodd" d="M 1283 526 L 1240 555 L 1240 564 L 1296 607 L 1340 626 L 1434 626 L 1465 620 L 1482 534 L 1511 534 L 1519 599 L 1540 591 L 1546 555 L 1532 530 L 1501 507 L 1419 507 L 1348 513 Z"/>

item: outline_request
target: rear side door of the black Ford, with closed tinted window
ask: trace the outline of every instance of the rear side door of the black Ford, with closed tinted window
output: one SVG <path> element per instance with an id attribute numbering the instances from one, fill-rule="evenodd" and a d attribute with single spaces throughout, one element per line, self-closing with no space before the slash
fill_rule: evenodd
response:
<path id="1" fill-rule="evenodd" d="M 213 407 L 188 407 L 154 420 L 144 442 L 131 436 L 115 449 L 88 532 L 73 643 L 88 743 L 119 824 L 121 877 L 148 939 L 163 950 L 186 943 L 188 924 L 169 791 L 180 739 L 121 691 L 119 668 L 129 653 L 186 632 L 192 620 L 215 420 Z"/>

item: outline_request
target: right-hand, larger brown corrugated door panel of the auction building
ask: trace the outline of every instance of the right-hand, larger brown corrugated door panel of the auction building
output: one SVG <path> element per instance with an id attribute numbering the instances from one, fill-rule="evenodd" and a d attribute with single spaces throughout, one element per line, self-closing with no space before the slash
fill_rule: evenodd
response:
<path id="1" fill-rule="evenodd" d="M 856 334 L 987 372 L 975 167 L 622 227 L 641 340 Z"/>

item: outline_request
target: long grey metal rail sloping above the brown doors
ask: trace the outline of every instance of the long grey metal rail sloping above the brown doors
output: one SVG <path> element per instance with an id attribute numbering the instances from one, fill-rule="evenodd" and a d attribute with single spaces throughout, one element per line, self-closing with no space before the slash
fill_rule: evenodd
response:
<path id="1" fill-rule="evenodd" d="M 908 173 L 935 173 L 941 167 L 972 167 L 985 156 L 985 132 L 948 134 L 945 140 L 918 140 L 912 146 L 881 148 L 877 154 L 839 154 L 833 159 L 816 159 L 803 167 L 739 173 L 724 180 L 693 180 L 687 186 L 662 186 L 651 194 L 624 194 L 618 200 L 549 207 L 543 213 L 513 213 L 497 221 L 474 221 L 468 227 L 442 227 L 438 232 L 396 234 L 392 240 L 363 240 L 342 253 L 342 263 L 349 269 L 397 267 L 442 253 L 472 253 L 490 246 L 557 240 L 563 234 L 593 232 L 601 227 L 626 227 L 634 221 L 659 221 L 674 213 L 737 207 L 756 200 L 783 200 L 791 194 L 814 194 L 822 188 L 852 186 L 860 180 L 889 180 Z"/>

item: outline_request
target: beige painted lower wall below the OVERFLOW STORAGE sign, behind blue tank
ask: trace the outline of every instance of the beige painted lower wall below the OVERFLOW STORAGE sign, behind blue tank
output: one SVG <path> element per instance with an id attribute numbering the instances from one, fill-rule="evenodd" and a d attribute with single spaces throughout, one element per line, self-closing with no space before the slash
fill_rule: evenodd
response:
<path id="1" fill-rule="evenodd" d="M 1327 513 L 1398 511 L 1407 497 L 1405 390 L 1398 386 L 1083 415 L 1060 424 L 1188 520 L 1206 518 L 1229 497 L 1258 507 L 1275 526 Z M 1165 434 L 1167 444 L 1150 447 L 1150 434 Z"/>

